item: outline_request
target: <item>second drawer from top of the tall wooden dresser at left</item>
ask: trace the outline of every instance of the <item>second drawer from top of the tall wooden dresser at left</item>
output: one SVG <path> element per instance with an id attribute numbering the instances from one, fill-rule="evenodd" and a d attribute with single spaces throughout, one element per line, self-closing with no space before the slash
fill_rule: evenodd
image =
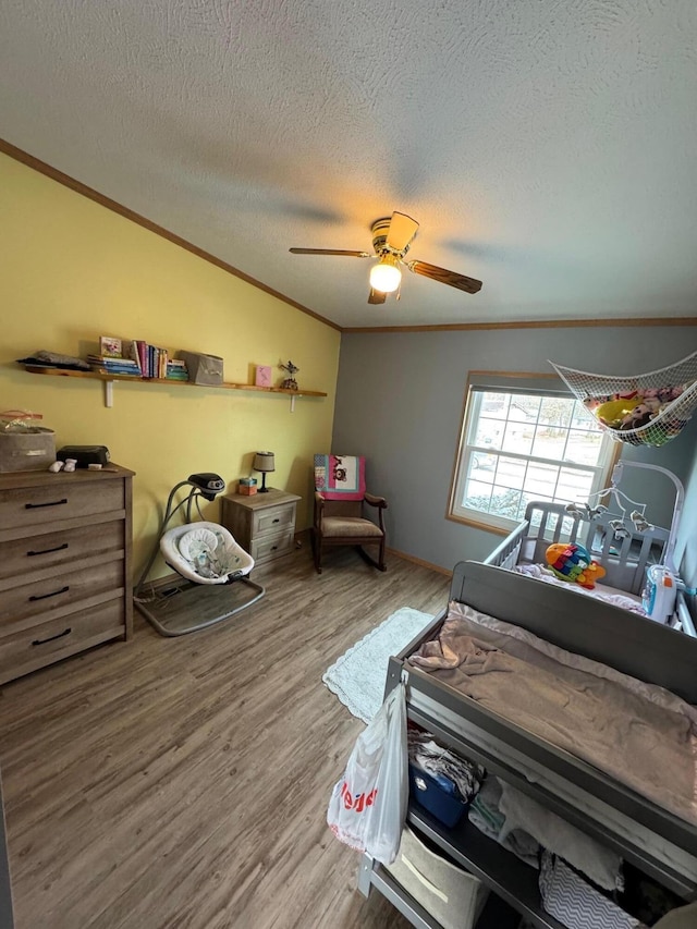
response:
<path id="1" fill-rule="evenodd" d="M 0 584 L 0 589 L 21 584 L 22 575 L 48 577 L 74 569 L 78 559 L 122 551 L 125 548 L 124 536 L 123 519 L 114 519 L 0 542 L 0 582 L 9 582 Z"/>

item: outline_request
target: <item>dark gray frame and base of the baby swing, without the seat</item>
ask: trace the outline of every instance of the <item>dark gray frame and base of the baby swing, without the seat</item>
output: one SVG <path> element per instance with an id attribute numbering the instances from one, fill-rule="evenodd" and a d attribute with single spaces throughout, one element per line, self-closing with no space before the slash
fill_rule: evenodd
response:
<path id="1" fill-rule="evenodd" d="M 191 488 L 188 493 L 174 505 L 178 491 L 187 486 Z M 183 514 L 185 525 L 191 525 L 193 528 L 200 525 L 213 525 L 205 522 L 192 523 L 193 508 L 195 503 L 196 511 L 203 519 L 200 498 L 211 501 L 222 490 L 224 490 L 224 482 L 218 475 L 193 474 L 187 480 L 180 481 L 170 491 L 157 541 L 136 584 L 133 596 L 136 609 L 162 636 L 186 635 L 216 625 L 235 613 L 246 610 L 247 607 L 261 599 L 266 592 L 260 584 L 256 584 L 247 576 L 254 566 L 254 560 L 250 555 L 247 558 L 252 563 L 244 569 L 244 573 L 241 571 L 232 572 L 224 582 L 210 583 L 204 579 L 197 582 L 179 573 L 159 580 L 149 583 L 146 580 L 160 551 L 161 539 L 173 516 L 176 513 Z M 224 527 L 218 526 L 218 528 L 229 535 Z M 176 571 L 175 564 L 171 564 L 169 561 L 167 563 Z M 249 588 L 252 595 L 241 599 L 237 596 L 237 589 L 235 589 L 237 588 L 236 582 L 242 582 Z"/>

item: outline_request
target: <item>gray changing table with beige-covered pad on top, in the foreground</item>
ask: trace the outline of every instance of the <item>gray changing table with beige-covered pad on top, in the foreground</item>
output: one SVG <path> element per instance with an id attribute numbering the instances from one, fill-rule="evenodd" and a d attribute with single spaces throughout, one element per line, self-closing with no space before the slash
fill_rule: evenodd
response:
<path id="1" fill-rule="evenodd" d="M 406 681 L 408 719 L 680 899 L 697 899 L 697 641 L 571 585 L 476 562 L 456 565 L 450 600 L 390 659 L 387 690 Z M 461 618 L 464 632 L 453 625 Z M 476 640 L 469 653 L 458 638 L 469 639 L 465 651 Z M 530 649 L 537 658 L 516 683 L 513 665 Z M 626 697 L 624 723 L 599 712 L 613 689 Z M 533 926 L 561 928 L 541 905 L 538 873 L 472 822 L 447 829 L 414 804 L 408 822 Z M 378 888 L 414 925 L 435 925 L 418 921 L 408 894 L 368 858 L 359 887 Z"/>

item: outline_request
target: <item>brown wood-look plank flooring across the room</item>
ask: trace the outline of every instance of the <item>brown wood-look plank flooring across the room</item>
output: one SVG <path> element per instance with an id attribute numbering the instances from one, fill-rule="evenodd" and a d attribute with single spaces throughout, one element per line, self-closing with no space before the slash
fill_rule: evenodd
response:
<path id="1" fill-rule="evenodd" d="M 363 729 L 322 684 L 400 607 L 449 578 L 307 547 L 255 570 L 223 624 L 129 643 L 5 684 L 0 769 L 16 929 L 402 929 L 326 824 Z"/>

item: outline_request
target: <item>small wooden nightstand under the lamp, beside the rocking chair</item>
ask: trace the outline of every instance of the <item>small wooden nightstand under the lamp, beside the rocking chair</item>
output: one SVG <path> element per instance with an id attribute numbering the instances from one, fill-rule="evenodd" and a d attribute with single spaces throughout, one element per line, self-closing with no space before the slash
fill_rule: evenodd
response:
<path id="1" fill-rule="evenodd" d="M 257 564 L 265 564 L 293 551 L 298 500 L 285 490 L 223 497 L 221 522 Z"/>

